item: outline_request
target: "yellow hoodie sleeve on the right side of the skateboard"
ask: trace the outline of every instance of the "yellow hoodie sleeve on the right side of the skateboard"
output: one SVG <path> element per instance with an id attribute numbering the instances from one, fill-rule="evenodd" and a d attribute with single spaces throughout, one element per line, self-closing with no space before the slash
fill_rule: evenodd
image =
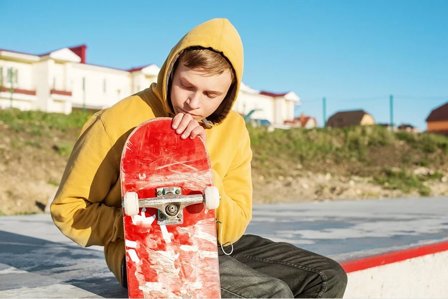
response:
<path id="1" fill-rule="evenodd" d="M 221 178 L 213 170 L 213 182 L 221 194 L 220 206 L 215 211 L 216 219 L 222 222 L 217 223 L 219 244 L 236 242 L 252 219 L 251 160 L 250 138 L 244 126 L 237 153 L 227 173 Z"/>

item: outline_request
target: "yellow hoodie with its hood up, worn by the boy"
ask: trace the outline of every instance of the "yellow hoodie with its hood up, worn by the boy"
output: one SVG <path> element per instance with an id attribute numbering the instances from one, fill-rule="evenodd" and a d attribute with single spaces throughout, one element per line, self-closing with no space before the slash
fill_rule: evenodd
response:
<path id="1" fill-rule="evenodd" d="M 179 53 L 190 46 L 221 51 L 232 64 L 237 84 L 229 91 L 221 115 L 204 120 L 214 185 L 220 190 L 216 218 L 222 221 L 222 243 L 234 243 L 252 218 L 249 135 L 243 118 L 232 111 L 243 73 L 243 47 L 226 19 L 212 19 L 193 28 L 173 47 L 157 83 L 96 113 L 84 125 L 56 197 L 51 216 L 68 238 L 81 246 L 104 246 L 109 269 L 121 283 L 125 256 L 120 192 L 120 156 L 124 142 L 139 124 L 155 117 L 174 117 L 167 102 L 168 80 Z M 218 232 L 220 233 L 220 224 Z M 220 239 L 218 239 L 220 242 Z"/>

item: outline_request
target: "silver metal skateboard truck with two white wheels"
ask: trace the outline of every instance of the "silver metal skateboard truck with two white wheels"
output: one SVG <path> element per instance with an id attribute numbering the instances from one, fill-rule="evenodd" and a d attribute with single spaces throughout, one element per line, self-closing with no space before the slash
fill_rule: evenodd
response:
<path id="1" fill-rule="evenodd" d="M 204 203 L 206 209 L 214 210 L 220 205 L 220 193 L 217 187 L 208 186 L 204 194 L 182 195 L 180 187 L 163 187 L 156 190 L 156 197 L 138 198 L 136 192 L 126 192 L 123 197 L 124 213 L 137 215 L 139 208 L 156 208 L 157 224 L 182 224 L 183 210 L 186 206 Z"/>

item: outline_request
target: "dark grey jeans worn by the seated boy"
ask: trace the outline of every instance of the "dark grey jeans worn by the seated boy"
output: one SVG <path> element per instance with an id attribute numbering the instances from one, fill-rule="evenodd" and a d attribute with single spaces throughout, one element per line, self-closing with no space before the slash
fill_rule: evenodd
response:
<path id="1" fill-rule="evenodd" d="M 222 298 L 342 298 L 340 265 L 294 245 L 244 235 L 230 256 L 219 248 Z M 230 246 L 224 247 L 229 253 Z M 125 267 L 124 267 L 125 271 Z M 126 276 L 123 275 L 125 285 Z"/>

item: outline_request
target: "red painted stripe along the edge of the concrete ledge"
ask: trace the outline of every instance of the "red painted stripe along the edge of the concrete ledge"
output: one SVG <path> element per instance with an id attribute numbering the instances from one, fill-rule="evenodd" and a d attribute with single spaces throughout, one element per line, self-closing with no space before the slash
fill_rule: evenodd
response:
<path id="1" fill-rule="evenodd" d="M 443 251 L 448 251 L 448 241 L 345 262 L 341 263 L 341 266 L 346 273 L 350 273 Z"/>

